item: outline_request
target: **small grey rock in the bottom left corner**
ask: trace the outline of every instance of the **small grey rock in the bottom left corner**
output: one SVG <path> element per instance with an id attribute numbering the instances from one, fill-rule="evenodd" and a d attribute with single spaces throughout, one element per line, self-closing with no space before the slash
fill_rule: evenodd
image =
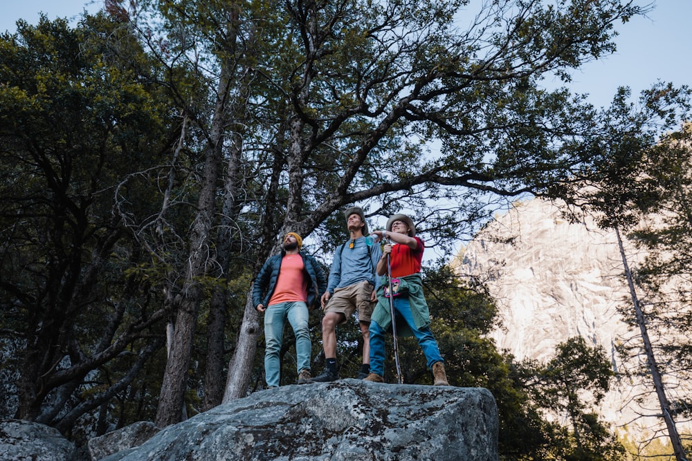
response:
<path id="1" fill-rule="evenodd" d="M 75 446 L 50 426 L 0 420 L 0 460 L 73 461 Z"/>

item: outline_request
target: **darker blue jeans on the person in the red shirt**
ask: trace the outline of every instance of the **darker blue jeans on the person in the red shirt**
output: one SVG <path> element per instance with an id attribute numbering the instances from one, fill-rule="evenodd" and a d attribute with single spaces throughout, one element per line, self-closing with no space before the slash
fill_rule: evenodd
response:
<path id="1" fill-rule="evenodd" d="M 428 368 L 432 370 L 432 364 L 435 364 L 435 362 L 438 361 L 441 361 L 444 364 L 442 356 L 439 355 L 437 341 L 435 341 L 435 337 L 432 336 L 430 328 L 425 327 L 421 330 L 416 328 L 416 324 L 413 321 L 413 315 L 411 314 L 411 305 L 408 301 L 408 297 L 394 297 L 394 315 L 397 317 L 397 319 L 403 319 L 403 321 L 408 324 L 408 328 L 411 329 L 413 335 L 418 340 L 418 344 L 423 349 Z M 383 330 L 382 327 L 373 320 L 370 321 L 370 373 L 384 376 L 384 368 L 385 330 Z"/>

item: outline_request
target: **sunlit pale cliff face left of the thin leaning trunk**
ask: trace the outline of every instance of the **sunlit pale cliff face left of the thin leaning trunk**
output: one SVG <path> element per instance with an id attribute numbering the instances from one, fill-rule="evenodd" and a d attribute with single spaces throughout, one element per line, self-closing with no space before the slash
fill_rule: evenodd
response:
<path id="1" fill-rule="evenodd" d="M 512 243 L 498 243 L 512 238 Z M 628 265 L 641 261 L 625 242 Z M 491 337 L 516 359 L 548 361 L 555 346 L 580 335 L 601 345 L 617 373 L 623 364 L 615 352 L 619 341 L 638 335 L 617 312 L 631 309 L 632 301 L 614 232 L 593 221 L 570 223 L 555 205 L 534 199 L 517 203 L 483 229 L 453 263 L 460 274 L 484 276 L 497 300 L 502 328 Z M 629 307 L 628 307 L 629 306 Z M 644 357 L 639 357 L 646 361 Z M 641 382 L 619 377 L 599 408 L 601 418 L 621 433 L 641 440 L 662 427 L 650 377 Z M 682 428 L 678 425 L 678 431 Z"/>

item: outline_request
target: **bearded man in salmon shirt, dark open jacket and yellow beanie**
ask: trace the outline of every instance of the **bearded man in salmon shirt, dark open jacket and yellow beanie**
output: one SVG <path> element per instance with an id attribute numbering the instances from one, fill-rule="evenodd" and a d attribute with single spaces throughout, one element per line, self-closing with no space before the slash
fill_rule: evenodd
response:
<path id="1" fill-rule="evenodd" d="M 284 321 L 295 335 L 298 384 L 310 379 L 312 343 L 308 327 L 309 309 L 327 290 L 327 278 L 315 258 L 300 252 L 302 238 L 295 232 L 284 236 L 280 254 L 266 260 L 253 286 L 255 309 L 264 313 L 264 379 L 267 388 L 279 386 L 279 352 Z"/>

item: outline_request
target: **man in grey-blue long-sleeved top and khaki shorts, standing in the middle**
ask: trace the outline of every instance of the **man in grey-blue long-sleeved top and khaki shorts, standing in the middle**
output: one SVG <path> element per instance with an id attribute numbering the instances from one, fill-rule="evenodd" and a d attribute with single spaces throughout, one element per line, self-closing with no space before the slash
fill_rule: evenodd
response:
<path id="1" fill-rule="evenodd" d="M 325 351 L 325 371 L 313 377 L 311 382 L 329 382 L 339 379 L 336 369 L 336 326 L 344 323 L 358 310 L 358 324 L 363 335 L 363 365 L 358 379 L 370 373 L 370 315 L 375 305 L 376 285 L 379 278 L 375 272 L 382 257 L 380 245 L 367 245 L 367 223 L 360 207 L 345 211 L 349 241 L 340 245 L 331 263 L 327 292 L 322 295 L 322 348 Z"/>

